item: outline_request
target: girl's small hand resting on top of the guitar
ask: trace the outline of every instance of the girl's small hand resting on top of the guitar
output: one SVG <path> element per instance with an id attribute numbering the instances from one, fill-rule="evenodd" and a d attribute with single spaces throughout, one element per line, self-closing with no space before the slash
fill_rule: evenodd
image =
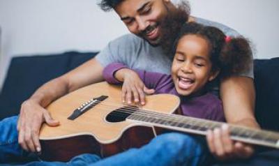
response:
<path id="1" fill-rule="evenodd" d="M 140 79 L 139 75 L 135 71 L 128 68 L 123 68 L 116 71 L 116 79 L 123 81 L 121 98 L 123 103 L 132 104 L 132 101 L 136 104 L 140 103 L 145 105 L 145 93 L 153 94 L 154 89 L 148 89 Z M 119 79 L 119 76 L 122 79 Z"/>

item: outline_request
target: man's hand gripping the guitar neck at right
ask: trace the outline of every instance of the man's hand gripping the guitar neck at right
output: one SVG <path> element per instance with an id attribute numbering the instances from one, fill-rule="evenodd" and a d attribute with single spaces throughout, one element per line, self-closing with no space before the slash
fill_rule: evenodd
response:
<path id="1" fill-rule="evenodd" d="M 229 138 L 229 127 L 209 130 L 206 135 L 209 150 L 218 160 L 229 160 L 233 158 L 249 158 L 254 153 L 250 144 L 234 142 Z"/>

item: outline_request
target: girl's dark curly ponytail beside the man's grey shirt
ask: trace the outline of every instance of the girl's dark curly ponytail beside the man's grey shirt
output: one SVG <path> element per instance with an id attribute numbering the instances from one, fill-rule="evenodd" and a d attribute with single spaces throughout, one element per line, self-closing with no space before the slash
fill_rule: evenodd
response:
<path id="1" fill-rule="evenodd" d="M 252 50 L 250 42 L 243 37 L 225 38 L 225 44 L 220 52 L 221 75 L 239 75 L 250 68 Z"/>

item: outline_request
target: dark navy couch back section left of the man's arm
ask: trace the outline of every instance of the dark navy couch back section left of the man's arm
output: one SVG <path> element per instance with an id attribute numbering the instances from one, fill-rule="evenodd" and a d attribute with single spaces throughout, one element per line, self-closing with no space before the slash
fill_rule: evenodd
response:
<path id="1" fill-rule="evenodd" d="M 20 112 L 20 105 L 39 86 L 91 59 L 94 53 L 14 57 L 0 93 L 0 119 Z"/>

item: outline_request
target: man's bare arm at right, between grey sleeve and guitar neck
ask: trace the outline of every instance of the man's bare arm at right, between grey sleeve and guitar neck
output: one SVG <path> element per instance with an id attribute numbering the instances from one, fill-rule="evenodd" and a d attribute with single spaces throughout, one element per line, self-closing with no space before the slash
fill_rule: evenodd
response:
<path id="1" fill-rule="evenodd" d="M 251 78 L 234 76 L 222 80 L 220 96 L 228 123 L 259 128 L 254 114 L 255 87 Z"/>

